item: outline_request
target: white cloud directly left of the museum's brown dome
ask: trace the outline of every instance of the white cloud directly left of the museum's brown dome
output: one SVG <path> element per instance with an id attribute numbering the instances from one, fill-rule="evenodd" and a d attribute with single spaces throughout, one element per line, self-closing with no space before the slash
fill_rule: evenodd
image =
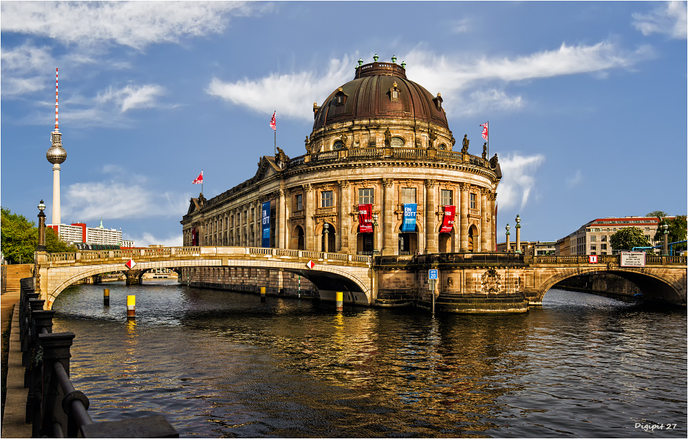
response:
<path id="1" fill-rule="evenodd" d="M 323 100 L 334 87 L 352 79 L 354 63 L 345 56 L 333 59 L 327 71 L 270 74 L 257 81 L 244 79 L 225 83 L 213 78 L 206 92 L 235 105 L 242 105 L 264 114 L 277 109 L 277 117 L 313 119 L 313 103 Z"/>

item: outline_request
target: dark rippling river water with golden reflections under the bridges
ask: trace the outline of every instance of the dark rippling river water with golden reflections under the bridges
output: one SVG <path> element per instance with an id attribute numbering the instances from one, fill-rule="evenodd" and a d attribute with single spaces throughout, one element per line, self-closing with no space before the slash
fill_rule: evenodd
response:
<path id="1" fill-rule="evenodd" d="M 550 290 L 521 315 L 338 313 L 146 282 L 54 303 L 94 421 L 151 411 L 182 437 L 687 435 L 685 308 Z"/>

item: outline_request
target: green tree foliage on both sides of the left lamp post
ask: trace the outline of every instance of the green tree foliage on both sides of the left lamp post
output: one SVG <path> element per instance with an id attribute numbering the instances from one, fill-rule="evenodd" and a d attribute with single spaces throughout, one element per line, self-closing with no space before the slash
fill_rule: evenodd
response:
<path id="1" fill-rule="evenodd" d="M 39 228 L 24 215 L 12 213 L 2 208 L 1 224 L 2 252 L 12 264 L 33 264 L 34 251 L 39 245 Z M 75 252 L 76 247 L 68 246 L 50 227 L 45 228 L 45 250 L 48 253 Z M 21 256 L 21 257 L 20 257 Z"/>

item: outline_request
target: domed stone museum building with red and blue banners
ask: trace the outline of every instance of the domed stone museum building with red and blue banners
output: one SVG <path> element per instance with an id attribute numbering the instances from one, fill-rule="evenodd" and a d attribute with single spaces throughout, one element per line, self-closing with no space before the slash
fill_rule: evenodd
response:
<path id="1" fill-rule="evenodd" d="M 277 148 L 249 180 L 191 199 L 184 246 L 382 256 L 495 250 L 497 155 L 455 139 L 440 93 L 410 81 L 404 63 L 358 61 L 352 81 L 314 103 L 313 115 L 302 156 Z M 203 283 L 200 268 L 184 270 L 180 279 Z M 227 288 L 265 276 L 205 270 L 216 272 L 203 279 Z M 295 275 L 280 276 L 283 288 L 295 288 Z"/>

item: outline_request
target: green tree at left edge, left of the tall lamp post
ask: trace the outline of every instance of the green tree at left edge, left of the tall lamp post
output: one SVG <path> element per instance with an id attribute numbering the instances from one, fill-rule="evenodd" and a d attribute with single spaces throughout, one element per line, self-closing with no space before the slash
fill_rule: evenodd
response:
<path id="1" fill-rule="evenodd" d="M 34 251 L 39 243 L 39 229 L 24 215 L 1 208 L 0 235 L 2 252 L 12 264 L 33 264 Z"/>

